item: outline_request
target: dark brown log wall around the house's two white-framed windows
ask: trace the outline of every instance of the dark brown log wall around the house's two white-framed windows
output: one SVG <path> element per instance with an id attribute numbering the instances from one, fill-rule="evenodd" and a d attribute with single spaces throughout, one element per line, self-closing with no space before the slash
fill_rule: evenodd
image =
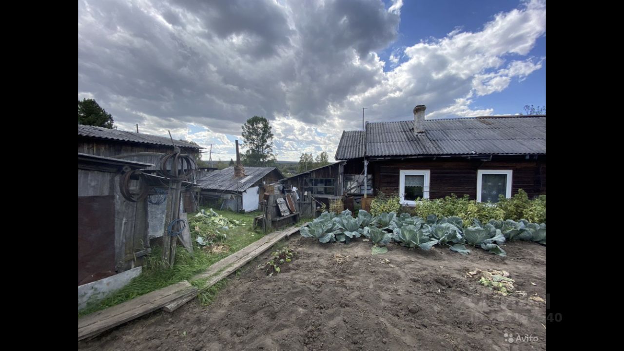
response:
<path id="1" fill-rule="evenodd" d="M 358 171 L 363 164 L 361 159 L 349 161 L 345 166 L 345 174 Z M 392 194 L 399 190 L 399 171 L 402 169 L 418 169 L 431 171 L 429 197 L 441 197 L 456 194 L 458 197 L 469 195 L 476 199 L 477 171 L 479 169 L 510 169 L 512 175 L 512 194 L 524 189 L 529 197 L 546 193 L 546 159 L 525 159 L 525 157 L 493 157 L 492 161 L 475 159 L 438 158 L 438 159 L 404 159 L 371 161 L 368 172 L 373 174 L 374 194 L 379 191 Z"/>

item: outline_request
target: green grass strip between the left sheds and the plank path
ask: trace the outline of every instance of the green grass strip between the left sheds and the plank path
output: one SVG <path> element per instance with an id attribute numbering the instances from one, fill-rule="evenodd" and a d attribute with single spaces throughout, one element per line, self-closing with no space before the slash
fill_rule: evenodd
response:
<path id="1" fill-rule="evenodd" d="M 208 207 L 202 207 L 208 209 Z M 243 222 L 245 225 L 233 227 L 225 231 L 227 239 L 223 240 L 222 244 L 229 245 L 230 251 L 222 254 L 210 254 L 207 250 L 200 248 L 196 242 L 193 242 L 193 257 L 184 249 L 179 243 L 175 250 L 175 264 L 170 269 L 163 269 L 161 267 L 161 247 L 152 247 L 152 252 L 148 255 L 144 261 L 142 274 L 139 277 L 133 279 L 128 285 L 123 287 L 117 292 L 109 295 L 99 302 L 89 302 L 87 306 L 78 312 L 78 317 L 91 314 L 93 312 L 112 307 L 117 304 L 121 304 L 127 300 L 134 299 L 140 295 L 145 295 L 154 290 L 162 289 L 169 285 L 181 282 L 182 280 L 189 280 L 194 275 L 204 272 L 215 264 L 219 260 L 235 253 L 236 251 L 243 249 L 247 245 L 255 242 L 264 236 L 261 229 L 251 230 L 253 223 L 253 217 L 259 214 L 259 212 L 250 212 L 248 214 L 237 214 L 229 210 L 215 210 L 218 214 L 228 219 L 236 219 Z M 192 216 L 195 214 L 189 214 L 189 222 L 191 234 L 193 240 L 193 224 Z M 213 285 L 209 289 L 203 291 L 200 296 L 200 302 L 202 304 L 210 304 L 217 295 L 217 292 L 225 286 L 227 279 L 223 279 L 217 284 Z M 201 288 L 205 284 L 205 280 L 193 281 L 193 286 Z"/>

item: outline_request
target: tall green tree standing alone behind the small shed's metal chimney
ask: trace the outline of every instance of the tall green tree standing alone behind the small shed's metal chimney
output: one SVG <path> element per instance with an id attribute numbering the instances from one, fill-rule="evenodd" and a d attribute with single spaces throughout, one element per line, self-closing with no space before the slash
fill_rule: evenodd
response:
<path id="1" fill-rule="evenodd" d="M 241 161 L 246 166 L 266 167 L 275 164 L 273 133 L 265 117 L 253 116 L 243 124 L 243 145 L 247 149 Z"/>

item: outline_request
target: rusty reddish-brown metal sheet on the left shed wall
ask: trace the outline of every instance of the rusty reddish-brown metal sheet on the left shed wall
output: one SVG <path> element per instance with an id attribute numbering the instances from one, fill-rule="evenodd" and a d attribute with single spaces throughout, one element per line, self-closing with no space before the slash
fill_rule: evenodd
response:
<path id="1" fill-rule="evenodd" d="M 115 196 L 78 197 L 78 285 L 115 274 Z"/>

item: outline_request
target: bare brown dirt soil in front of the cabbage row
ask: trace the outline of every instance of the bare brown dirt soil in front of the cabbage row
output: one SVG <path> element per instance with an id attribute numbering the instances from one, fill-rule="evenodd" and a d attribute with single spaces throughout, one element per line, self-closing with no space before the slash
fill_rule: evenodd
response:
<path id="1" fill-rule="evenodd" d="M 196 299 L 172 314 L 155 312 L 79 342 L 79 349 L 546 349 L 546 306 L 529 299 L 546 299 L 542 245 L 507 243 L 506 258 L 477 248 L 464 256 L 395 244 L 371 255 L 371 243 L 361 239 L 319 244 L 299 235 L 286 245 L 297 254 L 280 274 L 256 269 L 265 252 L 230 278 L 209 307 Z M 496 294 L 466 277 L 474 269 L 506 270 L 527 296 Z"/>

